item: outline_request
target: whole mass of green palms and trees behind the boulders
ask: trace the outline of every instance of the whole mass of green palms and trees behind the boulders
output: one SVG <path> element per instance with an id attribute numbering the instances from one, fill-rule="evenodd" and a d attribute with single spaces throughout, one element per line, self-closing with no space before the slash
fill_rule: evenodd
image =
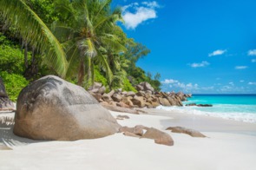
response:
<path id="1" fill-rule="evenodd" d="M 111 0 L 1 0 L 0 76 L 10 98 L 49 74 L 84 88 L 102 82 L 135 91 L 149 82 L 160 90 L 160 75 L 136 66 L 150 50 L 128 38 L 121 22 Z"/>

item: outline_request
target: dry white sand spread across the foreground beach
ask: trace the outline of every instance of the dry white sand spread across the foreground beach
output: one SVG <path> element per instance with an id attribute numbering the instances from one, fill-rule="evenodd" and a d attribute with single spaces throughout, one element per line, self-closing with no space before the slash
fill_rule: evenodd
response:
<path id="1" fill-rule="evenodd" d="M 160 114 L 159 111 L 157 113 Z M 118 121 L 122 126 L 133 127 L 142 124 L 161 130 L 167 127 L 168 122 L 172 124 L 178 119 L 176 116 L 172 119 L 172 117 L 148 114 L 117 112 L 111 112 L 111 114 L 115 117 L 118 114 L 130 117 L 128 120 Z M 184 115 L 184 119 L 186 117 Z M 11 126 L 0 127 L 0 142 L 13 148 L 13 150 L 0 151 L 0 169 L 256 169 L 256 135 L 230 133 L 229 130 L 220 129 L 220 127 L 225 127 L 221 124 L 222 121 L 220 123 L 215 119 L 212 121 L 217 126 L 216 132 L 211 125 L 207 127 L 207 124 L 202 123 L 203 126 L 200 127 L 201 129 L 211 128 L 207 132 L 201 131 L 208 138 L 193 138 L 187 134 L 165 131 L 173 137 L 173 147 L 158 145 L 153 140 L 137 139 L 123 134 L 96 140 L 31 141 L 12 134 Z M 189 122 L 186 124 L 186 121 L 181 121 L 181 124 L 188 127 L 191 125 Z M 242 126 L 247 126 L 247 124 Z M 256 124 L 248 126 L 254 132 L 253 127 L 256 127 Z M 246 127 L 248 132 L 249 127 Z M 243 127 L 240 128 L 243 129 Z"/>

